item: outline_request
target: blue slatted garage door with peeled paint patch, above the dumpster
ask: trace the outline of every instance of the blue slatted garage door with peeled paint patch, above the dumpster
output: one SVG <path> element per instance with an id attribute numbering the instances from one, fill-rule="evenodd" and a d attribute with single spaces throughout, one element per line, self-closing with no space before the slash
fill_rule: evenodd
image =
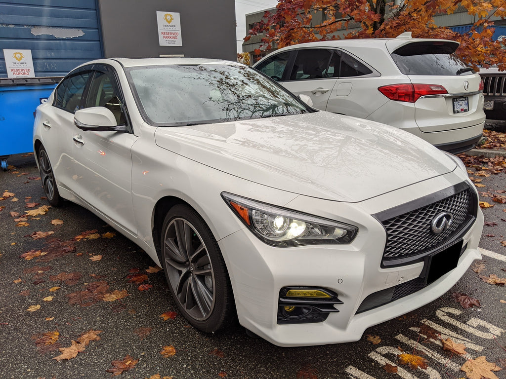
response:
<path id="1" fill-rule="evenodd" d="M 64 76 L 103 57 L 97 1 L 0 1 L 0 46 L 0 78 L 3 49 L 31 50 L 36 77 Z"/>

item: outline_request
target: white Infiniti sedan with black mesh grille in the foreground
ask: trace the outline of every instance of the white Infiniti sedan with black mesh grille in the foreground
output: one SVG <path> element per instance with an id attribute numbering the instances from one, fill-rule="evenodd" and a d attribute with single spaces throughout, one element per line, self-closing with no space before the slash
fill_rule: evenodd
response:
<path id="1" fill-rule="evenodd" d="M 481 259 L 457 158 L 238 63 L 87 63 L 37 108 L 33 143 L 48 201 L 144 249 L 203 331 L 237 317 L 279 346 L 357 341 Z"/>

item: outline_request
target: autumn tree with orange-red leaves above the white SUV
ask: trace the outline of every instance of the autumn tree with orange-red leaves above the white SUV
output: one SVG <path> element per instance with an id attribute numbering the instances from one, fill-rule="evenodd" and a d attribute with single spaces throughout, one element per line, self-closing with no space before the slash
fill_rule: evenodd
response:
<path id="1" fill-rule="evenodd" d="M 459 8 L 460 7 L 460 8 Z M 491 17 L 506 17 L 505 0 L 279 0 L 275 13 L 266 12 L 244 38 L 265 33 L 262 49 L 340 38 L 391 38 L 410 31 L 414 38 L 443 38 L 460 43 L 457 55 L 467 64 L 506 70 L 506 41 L 492 39 Z M 438 27 L 434 17 L 462 8 L 474 16 L 469 32 Z M 322 19 L 315 22 L 316 16 Z M 258 49 L 256 54 L 260 54 Z"/>

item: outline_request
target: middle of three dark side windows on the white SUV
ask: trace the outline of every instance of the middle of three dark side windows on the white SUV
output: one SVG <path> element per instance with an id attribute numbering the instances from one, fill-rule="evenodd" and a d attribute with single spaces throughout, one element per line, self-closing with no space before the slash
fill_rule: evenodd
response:
<path id="1" fill-rule="evenodd" d="M 326 77 L 332 52 L 326 49 L 302 49 L 297 53 L 290 80 Z"/>

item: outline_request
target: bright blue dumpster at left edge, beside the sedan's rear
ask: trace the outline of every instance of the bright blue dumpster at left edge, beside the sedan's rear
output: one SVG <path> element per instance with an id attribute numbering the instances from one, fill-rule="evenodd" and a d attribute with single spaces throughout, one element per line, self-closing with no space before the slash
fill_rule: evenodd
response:
<path id="1" fill-rule="evenodd" d="M 0 164 L 11 154 L 33 151 L 33 112 L 49 98 L 61 77 L 0 79 Z"/>

